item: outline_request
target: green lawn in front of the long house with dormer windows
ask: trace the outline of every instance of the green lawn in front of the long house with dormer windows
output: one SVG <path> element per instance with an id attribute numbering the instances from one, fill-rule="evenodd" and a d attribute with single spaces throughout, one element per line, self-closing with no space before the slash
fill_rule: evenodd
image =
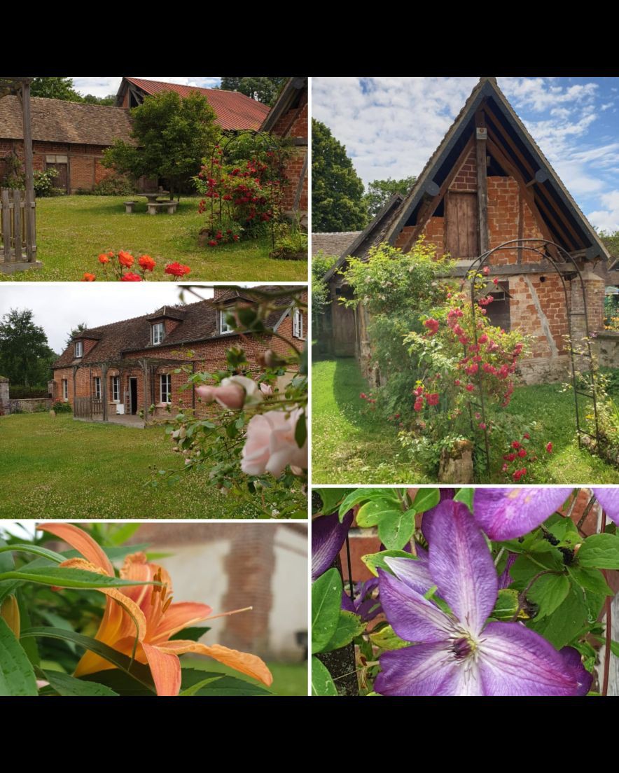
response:
<path id="1" fill-rule="evenodd" d="M 58 414 L 0 417 L 0 518 L 255 518 L 200 470 L 148 486 L 182 460 L 162 427 L 136 429 Z"/>

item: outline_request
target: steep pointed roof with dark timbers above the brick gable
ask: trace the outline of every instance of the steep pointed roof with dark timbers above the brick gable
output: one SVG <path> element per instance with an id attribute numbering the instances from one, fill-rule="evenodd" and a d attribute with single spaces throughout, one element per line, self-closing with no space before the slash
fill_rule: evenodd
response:
<path id="1" fill-rule="evenodd" d="M 532 196 L 550 237 L 570 253 L 589 260 L 608 257 L 604 244 L 563 185 L 536 141 L 499 89 L 496 79 L 482 77 L 431 156 L 400 207 L 387 233 L 393 244 L 403 226 L 416 222 L 424 196 L 434 196 L 474 136 L 475 113 L 483 110 L 488 129 L 488 155 L 503 171 L 518 177 Z"/>

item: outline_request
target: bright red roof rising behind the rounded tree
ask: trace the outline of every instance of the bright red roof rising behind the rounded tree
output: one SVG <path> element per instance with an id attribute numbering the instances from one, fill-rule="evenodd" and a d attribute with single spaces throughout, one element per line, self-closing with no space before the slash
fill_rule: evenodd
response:
<path id="1" fill-rule="evenodd" d="M 197 86 L 183 86 L 180 83 L 163 83 L 159 80 L 125 77 L 134 86 L 146 94 L 160 94 L 162 91 L 175 91 L 181 97 L 189 97 L 192 91 L 199 91 L 213 107 L 216 120 L 223 129 L 254 129 L 262 125 L 270 107 L 262 102 L 246 97 L 238 91 L 221 89 L 202 89 Z"/>

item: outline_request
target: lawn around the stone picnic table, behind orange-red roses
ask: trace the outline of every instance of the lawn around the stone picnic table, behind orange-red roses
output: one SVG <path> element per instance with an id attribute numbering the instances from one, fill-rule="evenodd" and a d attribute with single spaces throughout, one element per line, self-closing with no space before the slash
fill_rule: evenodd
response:
<path id="1" fill-rule="evenodd" d="M 148 215 L 146 201 L 134 213 L 124 211 L 132 196 L 56 196 L 37 199 L 37 255 L 39 271 L 0 274 L 5 281 L 81 281 L 84 272 L 102 278 L 97 255 L 102 250 L 148 254 L 157 267 L 153 279 L 169 279 L 166 263 L 191 267 L 188 280 L 306 281 L 305 261 L 276 261 L 268 257 L 270 239 L 198 247 L 205 217 L 198 214 L 199 198 L 182 198 L 174 215 Z M 138 198 L 137 196 L 135 198 Z"/>

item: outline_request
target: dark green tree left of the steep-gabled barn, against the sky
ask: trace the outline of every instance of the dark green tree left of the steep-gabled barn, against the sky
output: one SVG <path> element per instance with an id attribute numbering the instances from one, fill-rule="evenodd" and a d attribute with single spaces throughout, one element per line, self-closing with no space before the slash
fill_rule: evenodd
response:
<path id="1" fill-rule="evenodd" d="M 367 223 L 363 183 L 346 148 L 330 129 L 311 121 L 311 222 L 316 232 L 350 231 Z"/>

